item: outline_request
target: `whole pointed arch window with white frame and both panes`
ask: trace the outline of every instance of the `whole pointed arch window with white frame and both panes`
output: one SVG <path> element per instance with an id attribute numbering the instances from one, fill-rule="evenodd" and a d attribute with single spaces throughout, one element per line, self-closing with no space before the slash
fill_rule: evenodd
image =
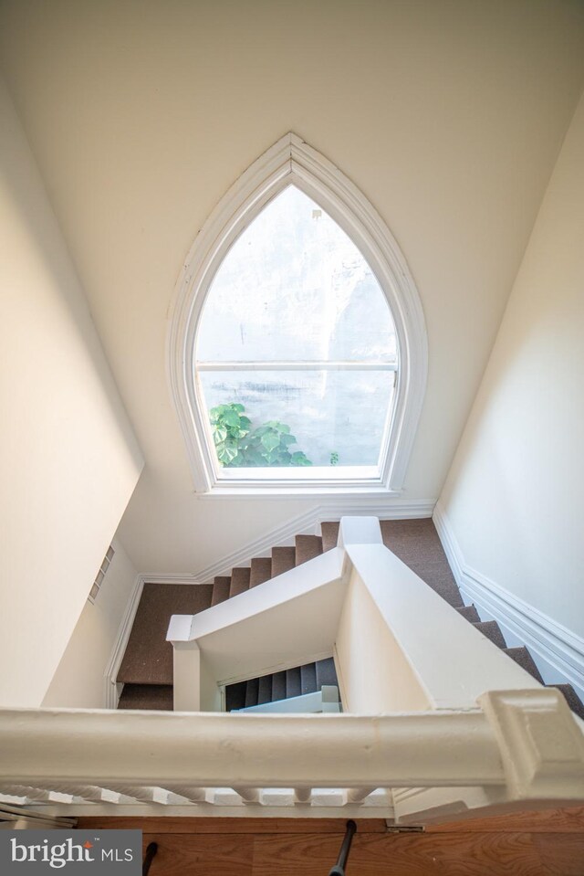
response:
<path id="1" fill-rule="evenodd" d="M 425 386 L 420 301 L 381 217 L 294 134 L 195 240 L 169 353 L 198 491 L 401 491 Z"/>

